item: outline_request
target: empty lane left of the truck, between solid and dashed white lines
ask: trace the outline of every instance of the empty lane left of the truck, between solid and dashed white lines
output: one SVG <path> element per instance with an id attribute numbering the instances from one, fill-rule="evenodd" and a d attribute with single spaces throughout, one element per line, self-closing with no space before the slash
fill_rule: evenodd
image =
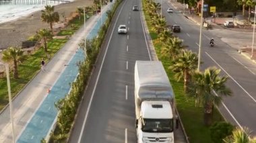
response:
<path id="1" fill-rule="evenodd" d="M 113 33 L 86 121 L 84 142 L 124 142 L 127 123 L 133 123 L 133 109 L 125 99 L 127 36 Z"/>

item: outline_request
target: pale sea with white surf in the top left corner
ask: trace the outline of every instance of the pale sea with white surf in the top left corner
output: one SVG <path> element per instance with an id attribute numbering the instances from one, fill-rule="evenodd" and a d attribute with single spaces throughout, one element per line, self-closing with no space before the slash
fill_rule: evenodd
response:
<path id="1" fill-rule="evenodd" d="M 0 0 L 0 24 L 40 11 L 45 5 L 59 5 L 71 1 L 75 0 Z"/>

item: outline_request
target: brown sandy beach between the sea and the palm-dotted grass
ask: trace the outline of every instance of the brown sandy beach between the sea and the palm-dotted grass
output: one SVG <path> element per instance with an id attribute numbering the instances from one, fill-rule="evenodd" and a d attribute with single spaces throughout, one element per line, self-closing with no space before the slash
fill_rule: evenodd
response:
<path id="1" fill-rule="evenodd" d="M 93 5 L 94 0 L 76 0 L 71 3 L 55 5 L 55 11 L 59 12 L 60 19 L 69 17 L 75 12 L 77 6 Z M 0 24 L 0 51 L 9 46 L 21 46 L 22 41 L 27 40 L 30 36 L 36 34 L 41 28 L 50 28 L 48 23 L 40 19 L 41 11 L 36 11 L 26 17 L 15 21 Z"/>

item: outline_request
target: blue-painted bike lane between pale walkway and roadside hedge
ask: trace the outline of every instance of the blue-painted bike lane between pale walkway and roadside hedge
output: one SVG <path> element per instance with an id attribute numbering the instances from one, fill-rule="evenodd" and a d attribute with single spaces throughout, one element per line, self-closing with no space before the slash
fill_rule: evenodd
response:
<path id="1" fill-rule="evenodd" d="M 112 4 L 110 5 L 110 7 Z M 106 12 L 102 13 L 102 20 L 100 17 L 96 19 L 97 22 L 90 30 L 90 33 L 87 36 L 87 39 L 90 40 L 98 35 L 100 30 L 101 23 L 104 23 L 106 20 Z M 77 52 L 73 55 L 71 60 L 61 73 L 59 79 L 51 88 L 51 92 L 46 95 L 44 101 L 40 104 L 31 120 L 28 122 L 24 128 L 22 134 L 20 134 L 17 142 L 18 143 L 35 143 L 40 142 L 42 138 L 45 138 L 49 131 L 52 128 L 52 125 L 55 124 L 55 119 L 57 117 L 57 109 L 55 103 L 60 99 L 63 99 L 71 88 L 70 83 L 75 81 L 79 67 L 77 63 L 84 60 L 84 51 L 79 48 Z"/>

